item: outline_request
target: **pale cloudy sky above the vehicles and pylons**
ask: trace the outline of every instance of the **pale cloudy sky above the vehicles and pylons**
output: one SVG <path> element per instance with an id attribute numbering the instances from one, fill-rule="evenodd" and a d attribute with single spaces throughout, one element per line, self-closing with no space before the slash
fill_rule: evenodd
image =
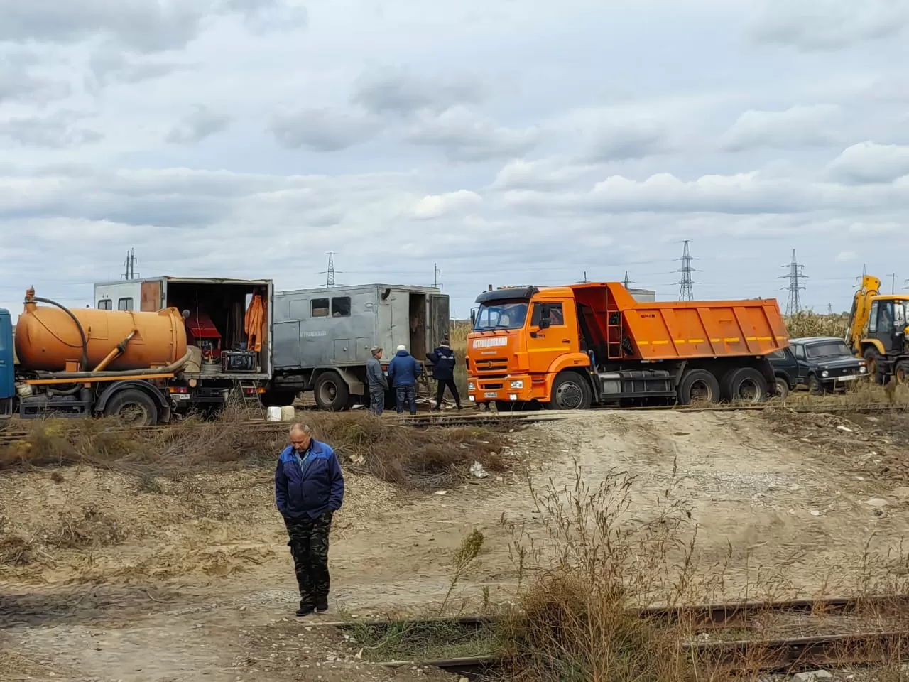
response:
<path id="1" fill-rule="evenodd" d="M 747 9 L 744 9 L 747 7 Z M 909 0 L 0 0 L 0 306 L 117 278 L 848 306 L 909 252 Z"/>

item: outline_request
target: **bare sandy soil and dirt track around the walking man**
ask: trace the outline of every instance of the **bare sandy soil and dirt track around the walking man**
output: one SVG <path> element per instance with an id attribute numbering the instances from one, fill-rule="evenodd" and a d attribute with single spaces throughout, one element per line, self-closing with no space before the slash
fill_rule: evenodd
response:
<path id="1" fill-rule="evenodd" d="M 628 523 L 665 491 L 693 506 L 709 597 L 816 596 L 905 573 L 903 416 L 591 412 L 513 434 L 512 471 L 430 493 L 347 475 L 329 614 L 295 618 L 271 466 L 149 478 L 94 468 L 0 474 L 0 680 L 410 680 L 319 622 L 437 610 L 474 528 L 481 563 L 454 608 L 514 595 L 503 518 L 539 533 L 527 485 L 636 477 Z M 844 427 L 844 428 L 841 428 Z M 889 557 L 888 557 L 889 553 Z M 708 596 L 704 596 L 705 598 Z"/>

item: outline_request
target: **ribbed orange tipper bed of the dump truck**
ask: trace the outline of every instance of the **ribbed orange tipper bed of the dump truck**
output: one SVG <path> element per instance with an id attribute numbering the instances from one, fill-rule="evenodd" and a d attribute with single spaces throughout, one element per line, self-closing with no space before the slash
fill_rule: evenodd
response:
<path id="1" fill-rule="evenodd" d="M 765 356 L 789 345 L 775 299 L 641 303 L 619 283 L 572 288 L 607 359 Z"/>

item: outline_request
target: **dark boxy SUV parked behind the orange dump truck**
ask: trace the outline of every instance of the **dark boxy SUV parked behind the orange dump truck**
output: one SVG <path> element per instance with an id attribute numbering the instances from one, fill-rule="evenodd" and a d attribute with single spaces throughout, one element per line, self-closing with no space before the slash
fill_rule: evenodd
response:
<path id="1" fill-rule="evenodd" d="M 850 353 L 841 338 L 791 338 L 789 346 L 798 364 L 798 383 L 808 386 L 814 394 L 844 388 L 868 376 L 864 360 Z"/>

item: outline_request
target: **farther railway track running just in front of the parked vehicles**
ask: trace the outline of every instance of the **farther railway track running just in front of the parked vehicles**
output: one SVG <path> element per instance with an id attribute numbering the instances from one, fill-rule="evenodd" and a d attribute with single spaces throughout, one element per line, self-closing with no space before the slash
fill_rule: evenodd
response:
<path id="1" fill-rule="evenodd" d="M 632 406 L 632 407 L 614 407 L 614 406 L 597 406 L 592 408 L 597 412 L 615 411 L 616 413 L 624 412 L 664 412 L 672 411 L 676 413 L 696 413 L 696 412 L 764 412 L 771 410 L 785 410 L 786 412 L 796 414 L 894 414 L 905 413 L 909 411 L 909 406 L 887 406 L 881 404 L 870 405 L 796 405 L 789 406 L 780 403 L 759 403 L 744 405 L 713 405 L 713 406 Z M 469 412 L 455 415 L 437 415 L 418 413 L 415 416 L 387 416 L 383 417 L 390 423 L 401 426 L 427 427 L 427 426 L 509 426 L 517 424 L 534 424 L 544 421 L 570 418 L 573 416 L 584 416 L 591 410 L 538 410 L 522 411 L 513 413 L 502 412 Z M 305 417 L 301 417 L 304 418 Z M 286 428 L 287 422 L 269 422 L 263 419 L 248 419 L 235 423 L 240 426 L 249 426 L 250 428 Z M 157 426 L 108 426 L 105 431 L 122 432 L 130 431 L 134 433 L 153 432 L 160 429 L 169 428 L 171 425 Z M 184 425 L 188 426 L 188 425 Z M 210 426 L 204 422 L 195 423 L 193 426 L 204 427 Z M 0 426 L 2 427 L 2 426 Z M 0 444 L 4 442 L 22 440 L 30 433 L 30 429 L 21 426 L 21 422 L 7 424 L 3 430 L 0 430 Z"/>

